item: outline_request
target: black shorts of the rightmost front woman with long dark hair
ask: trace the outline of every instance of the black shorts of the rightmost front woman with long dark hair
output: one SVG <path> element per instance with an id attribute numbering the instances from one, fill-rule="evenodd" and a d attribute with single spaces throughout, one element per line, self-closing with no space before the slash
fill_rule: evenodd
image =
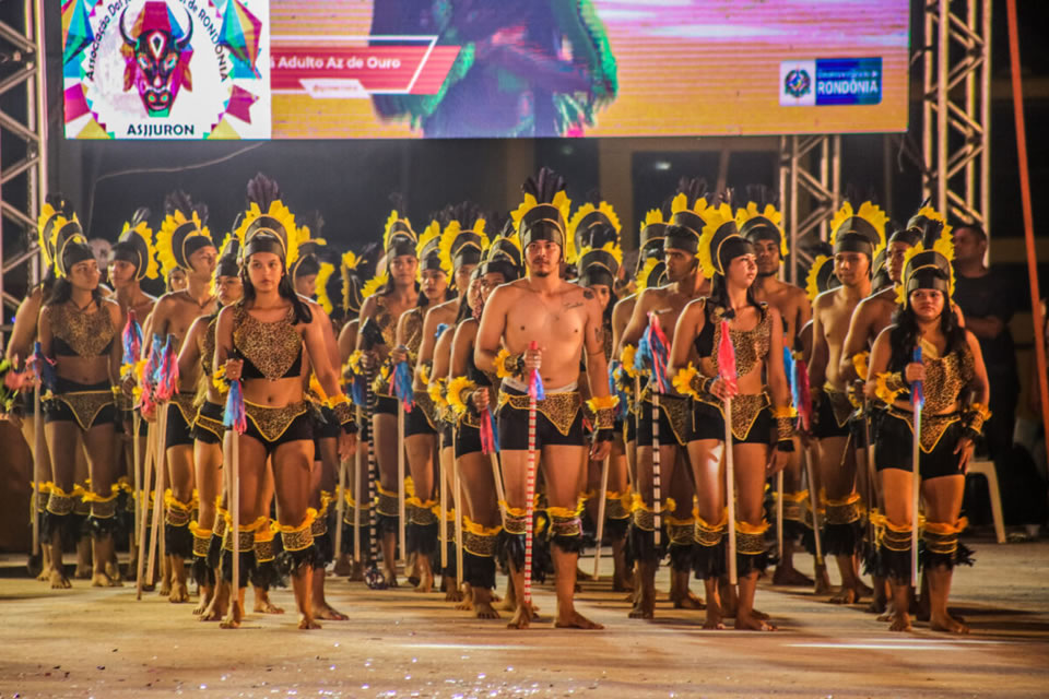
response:
<path id="1" fill-rule="evenodd" d="M 926 428 L 927 425 L 923 425 L 922 433 Z M 918 469 L 922 479 L 962 475 L 962 470 L 958 469 L 960 454 L 954 453 L 954 448 L 958 446 L 964 431 L 962 422 L 955 419 L 943 430 L 932 451 L 928 453 L 924 449 L 919 451 Z M 914 472 L 911 452 L 914 434 L 910 428 L 910 415 L 885 413 L 877 426 L 877 441 L 874 446 L 875 467 L 879 471 L 900 469 Z"/>

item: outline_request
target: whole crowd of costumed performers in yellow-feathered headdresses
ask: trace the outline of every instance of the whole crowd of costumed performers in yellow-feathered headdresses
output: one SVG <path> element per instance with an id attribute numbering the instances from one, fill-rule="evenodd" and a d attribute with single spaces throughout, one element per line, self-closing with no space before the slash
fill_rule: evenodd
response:
<path id="1" fill-rule="evenodd" d="M 573 211 L 545 168 L 522 190 L 504 222 L 461 203 L 421 234 L 399 205 L 381 244 L 344 253 L 262 175 L 221 241 L 173 192 L 155 237 L 148 211 L 125 225 L 108 285 L 52 197 L 3 395 L 35 457 L 39 579 L 69 588 L 75 545 L 93 585 L 188 602 L 192 580 L 195 613 L 236 627 L 249 584 L 276 613 L 290 578 L 316 628 L 345 618 L 329 565 L 382 589 L 403 560 L 417 592 L 514 628 L 552 573 L 556 626 L 600 628 L 574 595 L 580 552 L 605 545 L 630 617 L 652 618 L 669 561 L 674 607 L 768 630 L 754 596 L 775 552 L 774 583 L 871 597 L 895 630 L 967 630 L 947 595 L 989 392 L 940 213 L 895 226 L 846 202 L 803 289 L 779 279 L 761 188 L 683 179 L 633 271 L 599 196 Z M 806 549 L 814 580 L 792 562 Z"/>

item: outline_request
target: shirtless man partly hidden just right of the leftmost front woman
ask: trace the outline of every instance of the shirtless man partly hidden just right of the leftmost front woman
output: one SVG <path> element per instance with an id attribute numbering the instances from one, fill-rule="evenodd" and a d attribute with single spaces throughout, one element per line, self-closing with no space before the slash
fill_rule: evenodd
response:
<path id="1" fill-rule="evenodd" d="M 121 333 L 123 332 L 131 311 L 134 311 L 135 321 L 141 325 L 141 323 L 145 322 L 149 318 L 150 313 L 153 312 L 153 305 L 156 304 L 154 296 L 142 291 L 142 280 L 146 277 L 155 280 L 158 276 L 156 250 L 153 248 L 153 232 L 146 223 L 149 215 L 149 209 L 139 209 L 135 211 L 131 217 L 131 222 L 125 225 L 119 239 L 110 249 L 109 283 L 113 285 L 114 300 L 120 306 Z M 131 389 L 134 383 L 134 377 L 130 368 L 121 367 L 121 374 L 125 371 L 128 372 L 126 376 L 120 377 L 125 390 L 123 395 L 118 400 L 118 406 L 123 423 L 123 435 L 127 436 L 123 443 L 125 463 L 128 466 L 125 477 L 128 478 L 128 482 L 134 483 L 134 474 L 142 473 L 142 467 L 145 463 L 146 425 L 139 423 L 139 430 L 138 434 L 135 434 L 134 425 L 137 420 L 133 419 L 133 407 L 131 406 Z M 134 463 L 134 440 L 139 442 L 138 463 Z M 135 531 L 138 531 L 138 529 L 135 529 Z M 131 547 L 131 561 L 129 562 L 128 570 L 134 570 L 135 560 L 138 559 L 135 548 L 138 538 L 130 536 L 129 542 Z"/>

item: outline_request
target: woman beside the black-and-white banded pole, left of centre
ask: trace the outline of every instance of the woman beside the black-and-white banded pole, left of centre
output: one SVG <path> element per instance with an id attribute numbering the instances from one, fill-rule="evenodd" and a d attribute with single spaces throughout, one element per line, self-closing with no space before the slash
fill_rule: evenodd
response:
<path id="1" fill-rule="evenodd" d="M 397 450 L 403 449 L 397 428 L 397 398 L 393 395 L 390 350 L 397 346 L 397 325 L 401 315 L 419 303 L 417 240 L 408 218 L 394 210 L 386 222 L 382 248 L 386 269 L 365 285 L 361 307 L 357 350 L 364 352 L 365 368 L 378 369 L 374 382 L 375 407 L 372 414 L 375 459 L 378 464 L 379 543 L 382 547 L 382 574 L 390 588 L 397 587 L 398 469 Z M 370 321 L 370 322 L 368 322 Z M 381 364 L 381 367 L 380 367 Z"/>

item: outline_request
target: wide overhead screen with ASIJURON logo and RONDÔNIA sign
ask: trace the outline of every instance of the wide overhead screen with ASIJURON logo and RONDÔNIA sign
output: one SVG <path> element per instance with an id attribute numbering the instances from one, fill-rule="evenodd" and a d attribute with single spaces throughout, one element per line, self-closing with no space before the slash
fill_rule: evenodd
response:
<path id="1" fill-rule="evenodd" d="M 69 0 L 66 132 L 377 139 L 905 131 L 909 4 Z M 160 37 L 155 47 L 150 36 Z M 154 90 L 150 71 L 164 61 L 176 70 L 164 73 L 166 90 Z"/>

